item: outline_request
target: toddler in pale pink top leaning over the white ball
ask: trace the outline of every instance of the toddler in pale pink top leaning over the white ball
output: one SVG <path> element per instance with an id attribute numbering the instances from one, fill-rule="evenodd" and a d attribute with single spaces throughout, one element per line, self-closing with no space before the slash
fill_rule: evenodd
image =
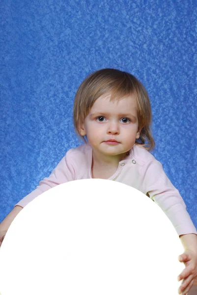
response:
<path id="1" fill-rule="evenodd" d="M 174 225 L 185 247 L 179 257 L 186 266 L 179 276 L 184 279 L 179 291 L 186 295 L 197 276 L 197 231 L 178 190 L 149 152 L 154 140 L 146 90 L 129 73 L 99 70 L 79 87 L 73 117 L 84 145 L 70 149 L 52 174 L 14 207 L 0 224 L 1 241 L 18 212 L 46 190 L 84 178 L 119 181 L 150 197 Z"/>

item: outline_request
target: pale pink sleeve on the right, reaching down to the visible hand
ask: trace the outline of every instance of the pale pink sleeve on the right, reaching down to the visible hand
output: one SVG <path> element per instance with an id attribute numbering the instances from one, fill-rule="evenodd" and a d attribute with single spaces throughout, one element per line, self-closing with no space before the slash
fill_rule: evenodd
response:
<path id="1" fill-rule="evenodd" d="M 196 234 L 197 230 L 186 210 L 186 205 L 156 159 L 148 161 L 141 172 L 143 191 L 169 217 L 179 236 Z"/>

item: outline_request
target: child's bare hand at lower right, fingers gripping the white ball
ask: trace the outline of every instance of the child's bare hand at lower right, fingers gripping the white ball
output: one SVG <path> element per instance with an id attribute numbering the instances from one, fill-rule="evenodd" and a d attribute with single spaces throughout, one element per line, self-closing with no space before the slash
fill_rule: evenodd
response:
<path id="1" fill-rule="evenodd" d="M 179 288 L 179 294 L 187 295 L 197 277 L 197 253 L 192 250 L 186 250 L 179 256 L 179 261 L 184 262 L 185 269 L 178 276 L 178 280 L 183 282 Z"/>

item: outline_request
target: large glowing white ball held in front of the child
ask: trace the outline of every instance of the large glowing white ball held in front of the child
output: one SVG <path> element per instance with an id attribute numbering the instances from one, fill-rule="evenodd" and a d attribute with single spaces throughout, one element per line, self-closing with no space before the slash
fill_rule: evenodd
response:
<path id="1" fill-rule="evenodd" d="M 104 179 L 56 186 L 14 219 L 0 248 L 2 295 L 176 295 L 184 251 L 165 213 Z"/>

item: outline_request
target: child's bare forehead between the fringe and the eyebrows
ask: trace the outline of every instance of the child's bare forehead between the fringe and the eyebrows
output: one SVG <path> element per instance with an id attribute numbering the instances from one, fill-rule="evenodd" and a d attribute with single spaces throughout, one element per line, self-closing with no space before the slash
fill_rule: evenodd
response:
<path id="1" fill-rule="evenodd" d="M 90 114 L 94 112 L 137 112 L 136 99 L 133 95 L 111 100 L 111 94 L 99 97 L 93 104 Z"/>

